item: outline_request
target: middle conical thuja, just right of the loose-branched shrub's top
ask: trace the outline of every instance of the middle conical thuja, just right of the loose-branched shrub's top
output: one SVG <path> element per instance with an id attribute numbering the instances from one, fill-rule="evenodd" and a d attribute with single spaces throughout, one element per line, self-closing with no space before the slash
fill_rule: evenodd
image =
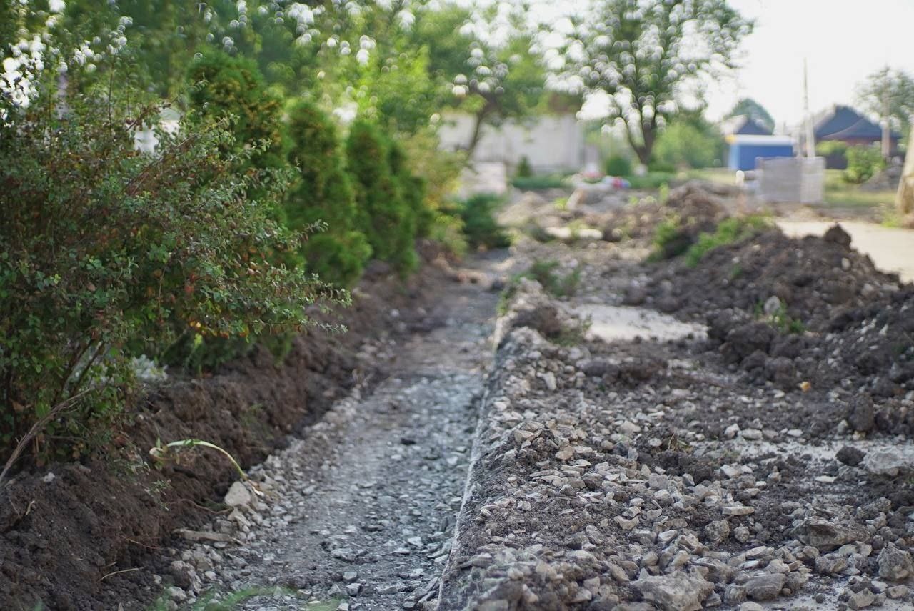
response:
<path id="1" fill-rule="evenodd" d="M 311 102 L 295 102 L 288 119 L 290 165 L 298 177 L 285 200 L 292 229 L 323 225 L 303 246 L 308 269 L 326 282 L 355 284 L 371 256 L 358 229 L 356 199 L 333 121 Z"/>

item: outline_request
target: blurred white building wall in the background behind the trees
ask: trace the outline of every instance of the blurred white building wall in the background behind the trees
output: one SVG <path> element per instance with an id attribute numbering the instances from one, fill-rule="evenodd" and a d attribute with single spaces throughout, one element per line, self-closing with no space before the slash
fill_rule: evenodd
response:
<path id="1" fill-rule="evenodd" d="M 473 117 L 445 115 L 439 132 L 441 148 L 466 148 L 473 135 Z M 573 114 L 546 114 L 530 123 L 484 126 L 473 161 L 514 167 L 526 155 L 537 172 L 579 170 L 584 165 L 584 129 Z"/>

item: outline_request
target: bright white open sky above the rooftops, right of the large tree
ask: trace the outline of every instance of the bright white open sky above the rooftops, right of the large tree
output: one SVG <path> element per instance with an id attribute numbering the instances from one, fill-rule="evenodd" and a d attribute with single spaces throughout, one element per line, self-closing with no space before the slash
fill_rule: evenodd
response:
<path id="1" fill-rule="evenodd" d="M 914 74 L 914 0 L 730 0 L 756 20 L 741 68 L 707 91 L 709 118 L 741 97 L 760 102 L 775 122 L 802 121 L 802 62 L 815 113 L 854 105 L 856 85 L 888 65 Z"/>

